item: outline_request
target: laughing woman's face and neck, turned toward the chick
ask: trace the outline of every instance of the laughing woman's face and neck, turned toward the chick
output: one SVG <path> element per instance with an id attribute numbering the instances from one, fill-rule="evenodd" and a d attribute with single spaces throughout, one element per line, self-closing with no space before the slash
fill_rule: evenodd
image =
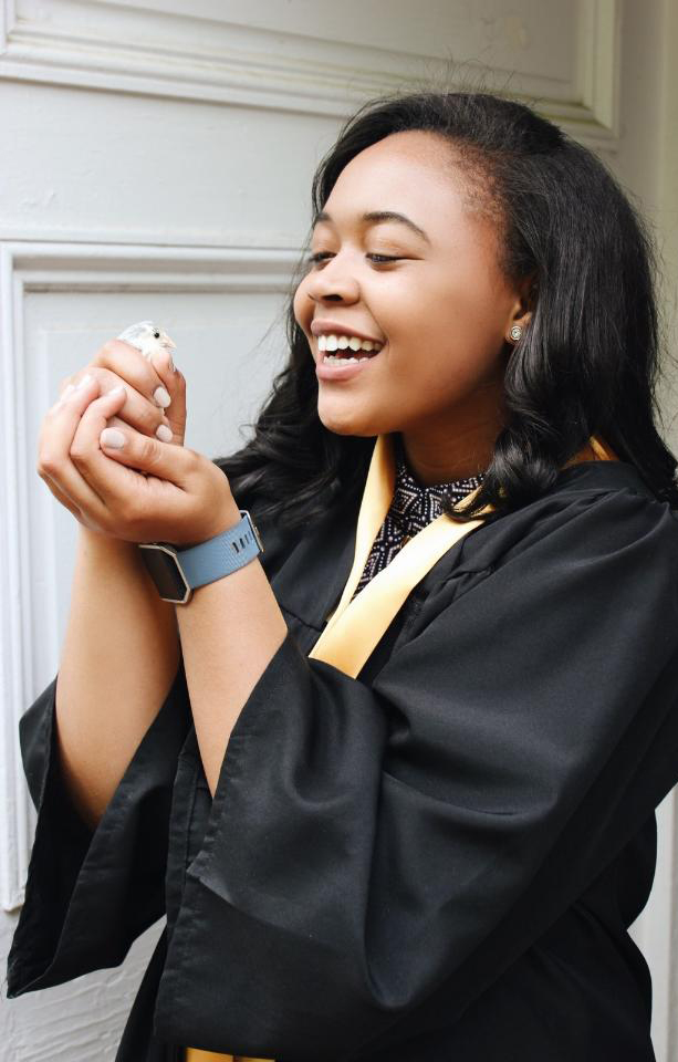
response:
<path id="1" fill-rule="evenodd" d="M 340 435 L 400 431 L 410 466 L 429 483 L 489 464 L 504 423 L 507 340 L 529 317 L 521 290 L 500 271 L 496 223 L 469 209 L 466 190 L 435 134 L 396 133 L 361 152 L 324 206 L 311 247 L 320 260 L 294 295 L 316 363 L 325 354 L 312 325 L 384 344 L 348 378 L 325 369 L 322 423 Z M 375 211 L 416 228 L 363 217 Z"/>

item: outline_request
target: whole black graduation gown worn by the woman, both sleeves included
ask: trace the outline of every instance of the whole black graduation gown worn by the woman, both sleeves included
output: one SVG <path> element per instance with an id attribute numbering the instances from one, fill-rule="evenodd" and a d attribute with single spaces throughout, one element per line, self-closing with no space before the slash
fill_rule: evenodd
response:
<path id="1" fill-rule="evenodd" d="M 306 653 L 358 503 L 260 521 L 289 631 L 213 803 L 182 666 L 93 834 L 55 679 L 24 714 L 8 996 L 117 966 L 166 913 L 117 1062 L 654 1059 L 627 927 L 678 781 L 678 516 L 629 464 L 565 469 L 450 549 L 351 678 Z"/>

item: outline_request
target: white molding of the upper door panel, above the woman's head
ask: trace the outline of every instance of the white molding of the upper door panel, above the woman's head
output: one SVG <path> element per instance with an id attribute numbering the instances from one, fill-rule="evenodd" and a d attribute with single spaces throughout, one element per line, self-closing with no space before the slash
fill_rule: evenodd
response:
<path id="1" fill-rule="evenodd" d="M 572 79 L 488 69 L 473 60 L 337 43 L 108 0 L 50 0 L 49 19 L 1 0 L 0 77 L 346 118 L 356 104 L 407 85 L 518 77 L 514 97 L 594 148 L 615 150 L 622 0 L 576 0 Z M 91 8 L 88 18 L 83 11 Z M 187 6 L 188 7 L 188 6 Z M 23 13 L 22 13 L 23 8 Z M 39 9 L 40 12 L 40 9 Z M 451 58 L 451 56 L 450 56 Z"/>

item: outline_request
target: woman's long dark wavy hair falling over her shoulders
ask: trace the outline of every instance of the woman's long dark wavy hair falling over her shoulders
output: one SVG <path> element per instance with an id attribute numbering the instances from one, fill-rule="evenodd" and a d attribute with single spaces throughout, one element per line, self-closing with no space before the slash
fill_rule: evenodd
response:
<path id="1" fill-rule="evenodd" d="M 561 467 L 597 434 L 632 462 L 659 500 L 678 508 L 677 461 L 655 426 L 663 351 L 655 294 L 656 257 L 647 223 L 591 150 L 522 103 L 488 92 L 394 93 L 364 104 L 321 160 L 313 218 L 352 158 L 392 133 L 437 133 L 452 148 L 467 187 L 497 219 L 500 267 L 534 277 L 532 319 L 505 344 L 508 418 L 494 440 L 473 504 L 442 510 L 489 520 L 549 490 Z M 478 198 L 479 197 L 479 198 Z M 260 518 L 296 528 L 348 500 L 365 483 L 374 437 L 341 436 L 317 414 L 317 377 L 293 298 L 286 308 L 290 356 L 278 373 L 253 438 L 218 458 L 233 496 Z M 251 425 L 250 425 L 251 426 Z M 259 499 L 263 504 L 259 504 Z"/>

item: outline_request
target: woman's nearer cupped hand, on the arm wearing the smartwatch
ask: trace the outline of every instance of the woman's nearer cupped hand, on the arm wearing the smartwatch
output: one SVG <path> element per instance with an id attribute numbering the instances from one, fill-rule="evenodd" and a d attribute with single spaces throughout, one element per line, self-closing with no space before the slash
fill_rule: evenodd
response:
<path id="1" fill-rule="evenodd" d="M 67 494 L 81 522 L 127 542 L 191 545 L 233 527 L 240 514 L 221 469 L 122 421 L 127 400 L 123 386 L 102 395 L 95 378 L 64 395 L 44 420 L 40 475 Z M 124 447 L 105 445 L 111 431 Z"/>

